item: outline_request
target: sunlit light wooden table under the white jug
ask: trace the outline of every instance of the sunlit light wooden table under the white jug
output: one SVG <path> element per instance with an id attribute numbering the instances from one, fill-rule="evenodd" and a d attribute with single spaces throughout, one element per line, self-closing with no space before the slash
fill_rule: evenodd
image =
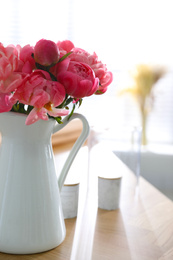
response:
<path id="1" fill-rule="evenodd" d="M 3 260 L 155 260 L 173 259 L 173 202 L 117 158 L 123 173 L 120 208 L 97 207 L 97 178 L 81 180 L 77 218 L 65 220 L 65 241 L 57 248 L 34 255 L 8 255 Z M 81 172 L 82 174 L 82 172 Z M 89 184 L 89 188 L 86 186 Z"/>

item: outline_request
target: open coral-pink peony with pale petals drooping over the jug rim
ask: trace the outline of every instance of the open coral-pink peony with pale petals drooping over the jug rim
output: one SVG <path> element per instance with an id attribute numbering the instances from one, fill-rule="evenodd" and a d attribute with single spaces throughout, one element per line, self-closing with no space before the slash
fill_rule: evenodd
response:
<path id="1" fill-rule="evenodd" d="M 48 120 L 48 114 L 54 117 L 67 115 L 67 110 L 56 108 L 64 101 L 65 95 L 64 86 L 51 81 L 48 72 L 35 70 L 23 80 L 13 99 L 34 107 L 26 119 L 29 125 L 40 119 Z"/>

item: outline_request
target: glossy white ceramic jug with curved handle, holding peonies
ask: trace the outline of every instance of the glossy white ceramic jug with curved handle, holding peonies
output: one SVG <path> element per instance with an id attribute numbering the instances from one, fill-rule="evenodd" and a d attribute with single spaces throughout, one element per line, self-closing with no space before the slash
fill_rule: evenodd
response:
<path id="1" fill-rule="evenodd" d="M 51 135 L 79 118 L 83 131 L 57 180 Z M 0 114 L 0 251 L 31 254 L 50 250 L 65 238 L 59 191 L 76 153 L 89 134 L 88 122 L 73 114 L 26 126 L 26 116 Z"/>

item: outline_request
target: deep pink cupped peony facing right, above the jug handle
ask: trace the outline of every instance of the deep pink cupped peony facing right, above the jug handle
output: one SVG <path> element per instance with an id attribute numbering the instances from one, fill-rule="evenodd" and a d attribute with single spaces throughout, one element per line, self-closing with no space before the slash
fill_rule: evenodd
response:
<path id="1" fill-rule="evenodd" d="M 66 92 L 73 98 L 83 98 L 94 94 L 99 87 L 99 79 L 85 63 L 65 59 L 58 71 L 57 80 L 64 85 Z M 62 69 L 63 68 L 63 69 Z"/>

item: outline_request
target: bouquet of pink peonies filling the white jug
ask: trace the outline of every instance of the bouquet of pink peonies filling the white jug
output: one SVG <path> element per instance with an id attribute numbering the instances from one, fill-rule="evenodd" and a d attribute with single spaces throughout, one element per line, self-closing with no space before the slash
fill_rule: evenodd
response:
<path id="1" fill-rule="evenodd" d="M 0 112 L 27 114 L 27 125 L 49 117 L 61 123 L 84 97 L 105 93 L 112 79 L 95 53 L 68 40 L 42 39 L 23 48 L 0 43 Z"/>

